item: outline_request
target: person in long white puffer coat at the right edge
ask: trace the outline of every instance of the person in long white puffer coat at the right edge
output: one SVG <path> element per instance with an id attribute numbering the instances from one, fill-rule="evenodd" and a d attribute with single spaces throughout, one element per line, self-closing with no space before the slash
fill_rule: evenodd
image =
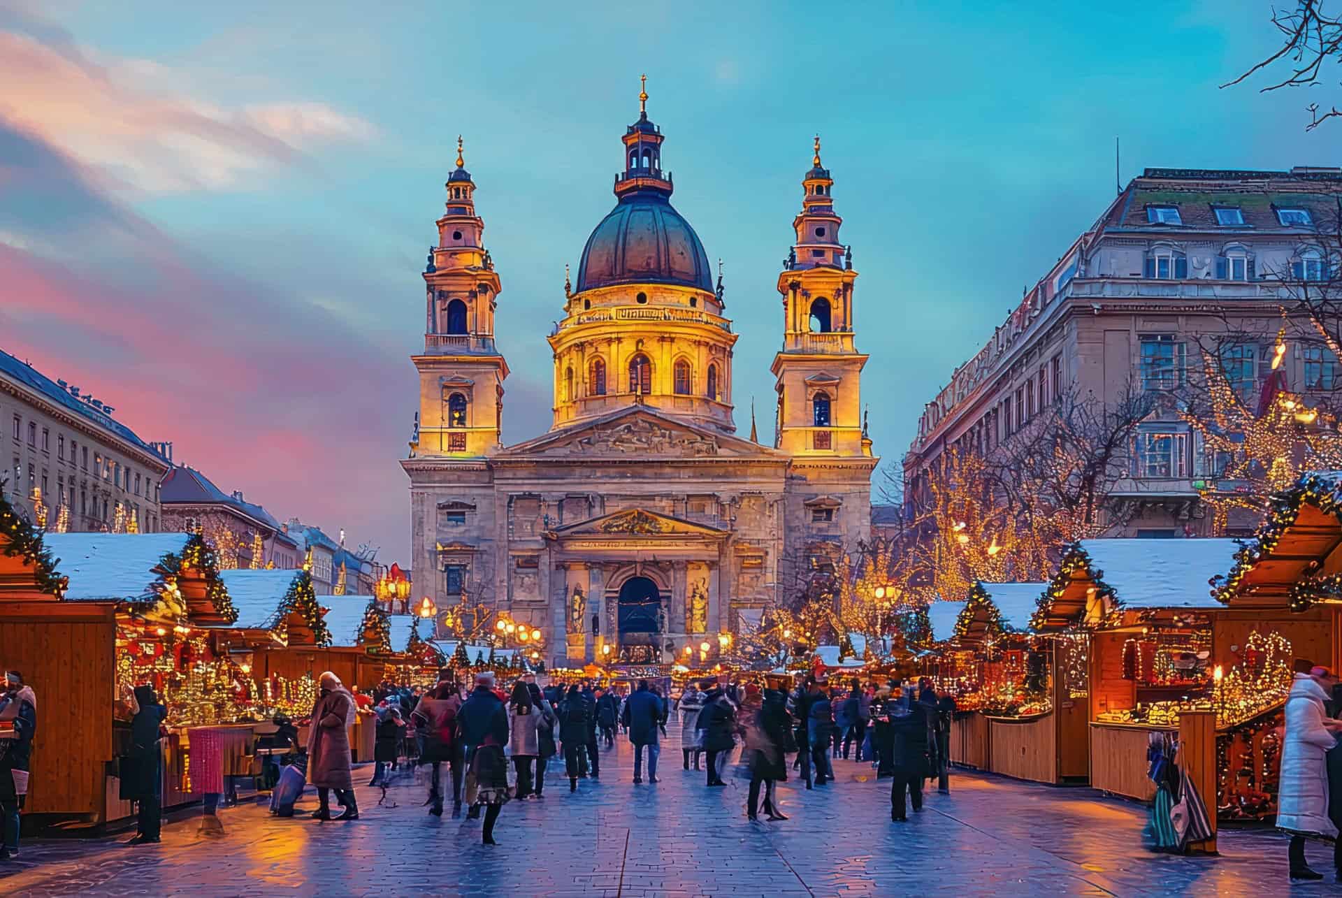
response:
<path id="1" fill-rule="evenodd" d="M 1337 682 L 1326 667 L 1296 674 L 1286 701 L 1286 737 L 1278 785 L 1276 826 L 1291 834 L 1292 879 L 1322 879 L 1304 862 L 1304 836 L 1337 838 L 1329 819 L 1329 775 L 1325 754 L 1337 744 L 1342 721 L 1327 715 L 1329 687 Z"/>

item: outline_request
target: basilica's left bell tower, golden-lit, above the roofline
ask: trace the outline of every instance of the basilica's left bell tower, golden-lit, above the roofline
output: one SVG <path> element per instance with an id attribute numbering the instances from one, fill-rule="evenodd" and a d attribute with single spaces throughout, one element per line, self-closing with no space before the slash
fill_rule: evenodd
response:
<path id="1" fill-rule="evenodd" d="M 484 248 L 484 221 L 475 213 L 475 181 L 466 170 L 462 138 L 447 179 L 447 209 L 437 244 L 424 266 L 424 353 L 420 375 L 417 456 L 480 456 L 501 444 L 507 362 L 494 345 L 499 275 Z"/>

